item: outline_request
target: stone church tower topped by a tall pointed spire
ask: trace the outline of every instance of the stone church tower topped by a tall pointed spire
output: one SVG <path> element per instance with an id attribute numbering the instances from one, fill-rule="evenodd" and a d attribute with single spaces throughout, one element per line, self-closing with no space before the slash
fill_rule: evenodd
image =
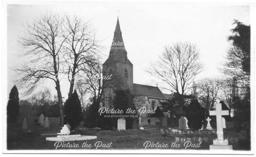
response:
<path id="1" fill-rule="evenodd" d="M 110 86 L 103 90 L 104 107 L 112 107 L 114 90 L 129 89 L 133 93 L 133 64 L 127 58 L 119 19 L 117 18 L 109 57 L 103 63 L 103 76 L 112 74 Z"/>

